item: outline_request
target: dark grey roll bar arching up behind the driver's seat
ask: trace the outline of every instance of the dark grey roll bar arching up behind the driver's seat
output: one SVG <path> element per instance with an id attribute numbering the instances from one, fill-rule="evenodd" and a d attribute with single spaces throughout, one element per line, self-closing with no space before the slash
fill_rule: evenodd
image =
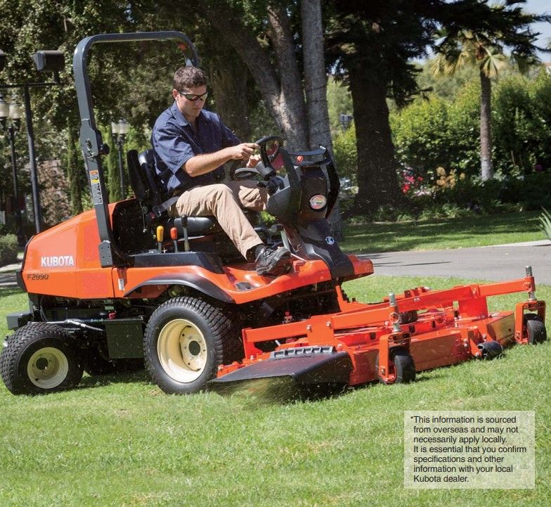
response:
<path id="1" fill-rule="evenodd" d="M 82 39 L 74 49 L 72 68 L 74 72 L 74 86 L 77 90 L 79 113 L 81 120 L 79 143 L 86 165 L 86 176 L 90 185 L 90 192 L 98 231 L 100 235 L 100 261 L 102 267 L 127 266 L 131 259 L 124 254 L 115 243 L 108 212 L 108 193 L 105 188 L 105 178 L 101 165 L 101 155 L 107 155 L 108 146 L 103 144 L 101 133 L 96 127 L 93 115 L 93 101 L 88 77 L 88 58 L 92 44 L 105 42 L 134 42 L 134 41 L 175 41 L 185 46 L 192 53 L 191 63 L 199 65 L 199 56 L 190 39 L 181 32 L 138 32 L 131 34 L 97 34 Z"/>

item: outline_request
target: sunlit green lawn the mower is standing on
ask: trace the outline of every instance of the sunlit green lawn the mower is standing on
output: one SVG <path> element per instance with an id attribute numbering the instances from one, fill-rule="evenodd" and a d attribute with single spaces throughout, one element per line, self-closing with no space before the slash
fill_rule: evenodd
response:
<path id="1" fill-rule="evenodd" d="M 457 283 L 371 276 L 345 288 L 376 301 Z M 491 307 L 512 309 L 519 297 Z M 538 297 L 551 300 L 551 287 L 539 286 Z M 5 314 L 25 307 L 25 295 L 0 289 L 2 335 Z M 85 376 L 75 390 L 38 397 L 14 397 L 1 385 L 0 506 L 548 507 L 550 359 L 549 342 L 517 346 L 495 361 L 421 373 L 410 385 L 309 402 L 167 396 L 145 373 Z M 536 489 L 404 489 L 405 410 L 535 410 Z"/>

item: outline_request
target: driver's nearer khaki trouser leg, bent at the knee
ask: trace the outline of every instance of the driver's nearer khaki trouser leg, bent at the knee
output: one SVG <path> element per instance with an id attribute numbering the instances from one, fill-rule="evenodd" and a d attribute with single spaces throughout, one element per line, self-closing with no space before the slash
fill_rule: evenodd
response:
<path id="1" fill-rule="evenodd" d="M 260 203 L 261 204 L 261 203 Z M 260 205 L 259 204 L 259 205 Z M 243 214 L 231 188 L 225 184 L 197 186 L 180 195 L 176 202 L 179 216 L 213 215 L 233 244 L 247 259 L 247 252 L 262 244 L 259 235 Z"/>

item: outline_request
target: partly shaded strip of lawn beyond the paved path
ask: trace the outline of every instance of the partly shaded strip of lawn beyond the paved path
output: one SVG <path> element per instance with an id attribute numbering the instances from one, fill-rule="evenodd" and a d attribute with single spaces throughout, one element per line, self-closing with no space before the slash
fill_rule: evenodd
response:
<path id="1" fill-rule="evenodd" d="M 346 252 L 443 250 L 543 240 L 540 212 L 484 215 L 430 222 L 348 224 L 342 248 Z"/>

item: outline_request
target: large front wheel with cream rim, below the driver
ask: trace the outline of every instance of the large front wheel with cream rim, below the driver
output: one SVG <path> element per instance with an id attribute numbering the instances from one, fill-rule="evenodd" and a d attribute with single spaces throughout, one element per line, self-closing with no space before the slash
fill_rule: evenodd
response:
<path id="1" fill-rule="evenodd" d="M 168 394 L 205 389 L 238 340 L 219 308 L 195 297 L 175 297 L 150 317 L 143 337 L 145 366 Z"/>

